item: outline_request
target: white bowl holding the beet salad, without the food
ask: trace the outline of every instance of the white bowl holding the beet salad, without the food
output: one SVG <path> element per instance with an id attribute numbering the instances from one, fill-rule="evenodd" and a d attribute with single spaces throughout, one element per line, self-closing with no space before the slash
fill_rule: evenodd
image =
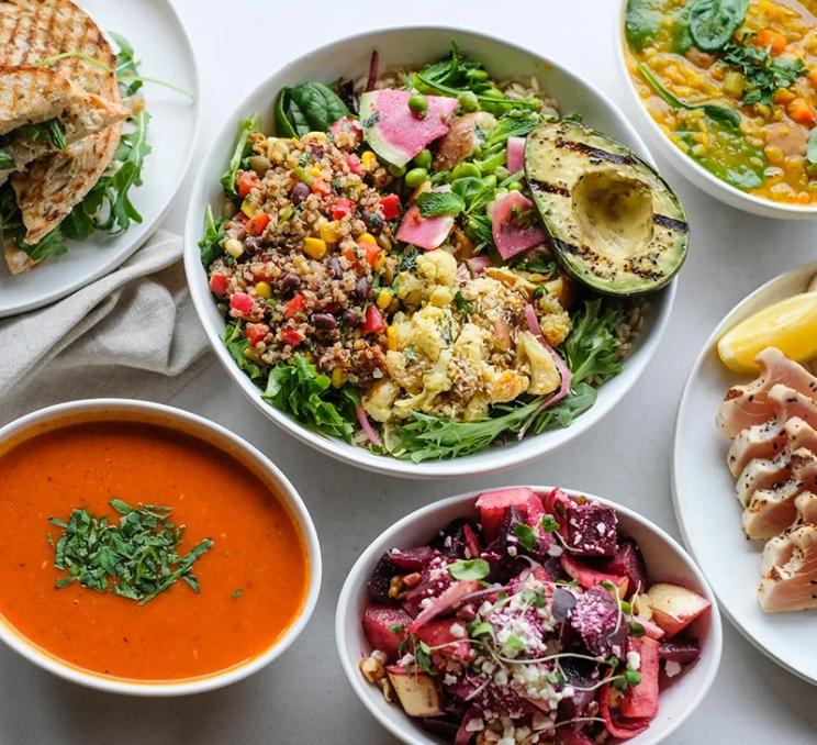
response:
<path id="1" fill-rule="evenodd" d="M 536 492 L 552 487 L 530 487 Z M 701 657 L 661 693 L 660 710 L 649 730 L 628 741 L 633 745 L 654 745 L 668 737 L 694 711 L 709 690 L 720 663 L 723 629 L 715 597 L 689 554 L 646 518 L 601 497 L 572 489 L 562 489 L 570 496 L 580 493 L 616 510 L 622 530 L 633 536 L 641 547 L 647 569 L 652 580 L 676 582 L 704 596 L 712 609 L 691 626 L 701 641 Z M 374 718 L 393 735 L 410 745 L 439 745 L 414 720 L 406 716 L 399 704 L 387 703 L 380 689 L 371 686 L 358 670 L 362 656 L 371 652 L 363 635 L 361 619 L 368 604 L 366 583 L 380 557 L 390 548 L 408 548 L 432 540 L 437 531 L 457 518 L 474 518 L 474 501 L 480 492 L 444 499 L 406 515 L 388 531 L 381 533 L 351 567 L 340 590 L 335 615 L 335 642 L 340 665 L 357 697 Z"/>

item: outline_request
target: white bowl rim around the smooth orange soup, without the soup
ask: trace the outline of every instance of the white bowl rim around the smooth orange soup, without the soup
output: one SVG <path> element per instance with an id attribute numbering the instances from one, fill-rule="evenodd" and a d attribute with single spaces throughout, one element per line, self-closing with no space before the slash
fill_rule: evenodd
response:
<path id="1" fill-rule="evenodd" d="M 309 622 L 321 589 L 321 548 L 317 533 L 306 507 L 289 479 L 262 453 L 220 424 L 181 409 L 148 401 L 91 399 L 41 409 L 0 429 L 0 446 L 12 438 L 24 440 L 37 432 L 87 421 L 132 421 L 159 424 L 200 437 L 233 455 L 247 466 L 281 500 L 301 531 L 309 560 L 309 590 L 303 607 L 290 627 L 264 654 L 223 672 L 178 682 L 116 680 L 81 670 L 44 652 L 7 623 L 2 615 L 0 615 L 0 640 L 26 659 L 60 678 L 88 688 L 131 696 L 183 696 L 222 688 L 257 672 L 283 654 Z"/>

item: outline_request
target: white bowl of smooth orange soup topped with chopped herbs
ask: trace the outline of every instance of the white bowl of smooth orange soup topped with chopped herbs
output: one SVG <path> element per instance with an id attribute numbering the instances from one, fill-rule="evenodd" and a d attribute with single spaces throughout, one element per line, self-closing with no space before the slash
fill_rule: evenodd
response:
<path id="1" fill-rule="evenodd" d="M 321 585 L 312 519 L 259 451 L 143 401 L 0 430 L 0 638 L 74 682 L 176 696 L 259 670 Z"/>

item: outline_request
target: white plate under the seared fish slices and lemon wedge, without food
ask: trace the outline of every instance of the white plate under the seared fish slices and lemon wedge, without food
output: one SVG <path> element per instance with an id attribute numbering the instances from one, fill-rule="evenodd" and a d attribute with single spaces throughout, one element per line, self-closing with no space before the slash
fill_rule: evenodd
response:
<path id="1" fill-rule="evenodd" d="M 762 543 L 747 541 L 743 535 L 735 479 L 726 466 L 730 441 L 715 426 L 727 389 L 750 378 L 724 367 L 715 345 L 742 319 L 804 291 L 815 274 L 817 262 L 772 279 L 738 303 L 715 329 L 681 398 L 672 464 L 678 522 L 720 609 L 758 649 L 812 683 L 817 683 L 817 615 L 764 613 L 757 600 Z"/>

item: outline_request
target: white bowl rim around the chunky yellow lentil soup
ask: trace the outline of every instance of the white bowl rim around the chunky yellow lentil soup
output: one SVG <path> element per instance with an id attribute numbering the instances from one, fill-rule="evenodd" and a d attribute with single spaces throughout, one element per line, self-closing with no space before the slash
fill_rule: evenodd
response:
<path id="1" fill-rule="evenodd" d="M 763 197 L 756 197 L 721 181 L 706 168 L 682 153 L 663 133 L 661 127 L 649 115 L 643 101 L 638 96 L 636 86 L 627 69 L 625 49 L 627 40 L 624 35 L 624 20 L 629 0 L 619 0 L 620 9 L 615 24 L 615 56 L 618 69 L 624 77 L 624 88 L 630 99 L 631 109 L 636 111 L 640 132 L 645 132 L 650 147 L 661 153 L 682 176 L 692 181 L 698 189 L 720 200 L 729 207 L 743 212 L 759 214 L 762 218 L 782 218 L 786 220 L 805 220 L 817 215 L 817 204 L 796 205 L 773 202 Z"/>

